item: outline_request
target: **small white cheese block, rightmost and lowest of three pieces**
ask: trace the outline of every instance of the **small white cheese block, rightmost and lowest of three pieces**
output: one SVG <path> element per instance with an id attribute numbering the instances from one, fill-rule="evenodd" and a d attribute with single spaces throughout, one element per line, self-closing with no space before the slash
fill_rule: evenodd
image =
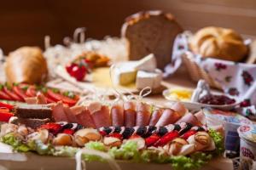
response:
<path id="1" fill-rule="evenodd" d="M 143 89 L 149 88 L 159 88 L 162 81 L 162 71 L 155 69 L 154 72 L 148 71 L 137 71 L 136 78 L 136 88 Z"/>

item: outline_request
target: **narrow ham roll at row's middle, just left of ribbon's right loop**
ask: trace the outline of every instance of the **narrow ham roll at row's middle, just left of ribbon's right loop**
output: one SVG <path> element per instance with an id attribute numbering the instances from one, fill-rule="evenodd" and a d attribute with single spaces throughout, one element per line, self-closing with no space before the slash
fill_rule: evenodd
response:
<path id="1" fill-rule="evenodd" d="M 135 103 L 128 101 L 124 103 L 124 117 L 125 127 L 134 127 L 136 123 L 136 105 Z"/>

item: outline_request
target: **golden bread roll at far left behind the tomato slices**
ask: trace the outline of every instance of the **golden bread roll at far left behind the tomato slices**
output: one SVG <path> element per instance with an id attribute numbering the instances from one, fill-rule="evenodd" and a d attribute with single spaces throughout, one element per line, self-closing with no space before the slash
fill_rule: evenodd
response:
<path id="1" fill-rule="evenodd" d="M 39 83 L 47 77 L 47 72 L 46 60 L 37 47 L 18 48 L 6 61 L 5 74 L 10 83 Z"/>

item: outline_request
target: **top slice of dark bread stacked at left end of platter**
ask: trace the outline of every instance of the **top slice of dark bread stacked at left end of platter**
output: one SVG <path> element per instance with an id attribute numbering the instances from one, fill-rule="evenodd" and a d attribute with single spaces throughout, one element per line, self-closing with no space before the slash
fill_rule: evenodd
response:
<path id="1" fill-rule="evenodd" d="M 15 116 L 19 118 L 52 119 L 52 110 L 48 105 L 19 105 L 15 107 Z"/>

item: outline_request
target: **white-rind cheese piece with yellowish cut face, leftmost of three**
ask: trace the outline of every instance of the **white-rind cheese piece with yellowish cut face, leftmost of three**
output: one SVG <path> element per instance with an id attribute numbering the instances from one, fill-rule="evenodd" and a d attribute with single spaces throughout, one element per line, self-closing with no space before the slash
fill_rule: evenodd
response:
<path id="1" fill-rule="evenodd" d="M 117 85 L 128 85 L 136 80 L 137 70 L 135 62 L 125 62 L 113 70 L 113 83 Z"/>

